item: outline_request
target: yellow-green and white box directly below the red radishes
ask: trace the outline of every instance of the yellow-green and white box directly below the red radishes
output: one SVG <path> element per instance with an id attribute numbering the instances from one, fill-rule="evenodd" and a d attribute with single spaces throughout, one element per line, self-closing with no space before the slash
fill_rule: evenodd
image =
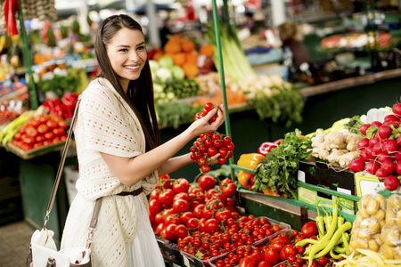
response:
<path id="1" fill-rule="evenodd" d="M 356 196 L 361 198 L 367 194 L 380 193 L 385 198 L 389 198 L 392 194 L 401 194 L 401 187 L 394 191 L 386 190 L 384 182 L 381 182 L 377 176 L 369 174 L 366 171 L 355 174 L 355 183 Z"/>

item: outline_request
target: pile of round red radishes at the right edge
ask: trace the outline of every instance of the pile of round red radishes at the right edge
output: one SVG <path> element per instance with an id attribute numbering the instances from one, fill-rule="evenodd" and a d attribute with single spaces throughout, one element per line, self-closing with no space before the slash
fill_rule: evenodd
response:
<path id="1" fill-rule="evenodd" d="M 365 137 L 357 144 L 359 158 L 348 168 L 354 172 L 365 170 L 384 180 L 386 189 L 397 190 L 401 178 L 401 103 L 394 104 L 392 111 L 382 123 L 374 121 L 360 126 Z"/>

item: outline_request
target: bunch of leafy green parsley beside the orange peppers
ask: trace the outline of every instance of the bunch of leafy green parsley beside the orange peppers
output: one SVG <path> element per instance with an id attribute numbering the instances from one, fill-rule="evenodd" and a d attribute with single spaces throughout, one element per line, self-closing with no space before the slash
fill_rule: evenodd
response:
<path id="1" fill-rule="evenodd" d="M 284 141 L 266 155 L 258 165 L 254 177 L 254 190 L 279 190 L 289 198 L 297 199 L 297 171 L 299 161 L 308 158 L 312 149 L 309 138 L 301 136 L 299 129 L 285 134 Z"/>

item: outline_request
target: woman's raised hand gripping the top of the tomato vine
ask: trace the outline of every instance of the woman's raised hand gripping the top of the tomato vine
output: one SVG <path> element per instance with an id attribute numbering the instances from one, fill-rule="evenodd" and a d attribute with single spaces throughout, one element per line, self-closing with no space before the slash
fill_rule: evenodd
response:
<path id="1" fill-rule="evenodd" d="M 209 123 L 209 119 L 217 114 L 216 121 Z M 193 135 L 193 138 L 205 133 L 216 132 L 218 127 L 225 121 L 225 108 L 223 105 L 218 106 L 216 109 L 212 109 L 205 117 L 197 119 L 190 125 L 187 131 Z"/>

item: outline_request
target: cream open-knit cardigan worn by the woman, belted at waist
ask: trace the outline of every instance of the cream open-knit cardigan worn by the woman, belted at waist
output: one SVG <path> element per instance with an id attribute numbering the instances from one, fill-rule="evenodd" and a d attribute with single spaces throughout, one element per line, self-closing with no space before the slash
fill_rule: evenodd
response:
<path id="1" fill-rule="evenodd" d="M 96 198 L 104 197 L 92 244 L 93 266 L 127 266 L 127 247 L 137 225 L 133 196 L 121 191 L 143 187 L 149 194 L 158 182 L 157 171 L 130 188 L 111 173 L 100 152 L 133 158 L 145 152 L 142 127 L 128 104 L 104 78 L 92 81 L 82 93 L 74 129 L 79 164 L 78 194 L 71 203 L 61 248 L 86 246 Z M 151 237 L 154 238 L 154 237 Z"/>

